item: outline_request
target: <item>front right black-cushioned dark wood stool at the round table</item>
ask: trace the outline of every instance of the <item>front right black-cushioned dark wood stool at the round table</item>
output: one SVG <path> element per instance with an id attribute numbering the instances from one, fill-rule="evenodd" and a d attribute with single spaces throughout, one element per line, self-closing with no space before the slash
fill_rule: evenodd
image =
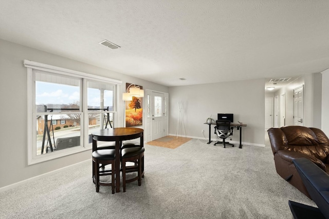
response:
<path id="1" fill-rule="evenodd" d="M 135 147 L 123 148 L 121 150 L 121 167 L 122 167 L 122 187 L 125 192 L 125 184 L 133 181 L 138 181 L 138 186 L 141 185 L 142 177 L 144 176 L 144 151 L 143 147 L 135 145 Z M 126 162 L 134 162 L 133 166 L 126 166 Z M 137 172 L 137 176 L 126 180 L 126 173 Z"/>

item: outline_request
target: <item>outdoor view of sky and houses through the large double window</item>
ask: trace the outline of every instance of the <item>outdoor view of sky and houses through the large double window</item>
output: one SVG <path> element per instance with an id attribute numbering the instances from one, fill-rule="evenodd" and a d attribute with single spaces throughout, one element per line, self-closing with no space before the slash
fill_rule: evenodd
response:
<path id="1" fill-rule="evenodd" d="M 92 142 L 90 133 L 113 127 L 113 113 L 107 112 L 113 111 L 113 85 L 101 89 L 96 85 L 99 83 L 90 83 L 89 87 L 88 83 L 87 89 L 88 144 Z M 84 133 L 80 99 L 79 80 L 65 84 L 35 82 L 36 155 L 80 146 Z"/>

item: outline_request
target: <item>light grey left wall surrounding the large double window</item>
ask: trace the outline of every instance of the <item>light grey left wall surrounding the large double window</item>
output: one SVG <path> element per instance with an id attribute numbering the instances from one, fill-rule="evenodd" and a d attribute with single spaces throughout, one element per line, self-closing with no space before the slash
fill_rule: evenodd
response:
<path id="1" fill-rule="evenodd" d="M 85 151 L 27 166 L 27 69 L 23 66 L 24 59 L 121 80 L 122 92 L 126 82 L 141 85 L 143 89 L 168 92 L 166 86 L 0 39 L 0 188 L 91 158 L 90 151 Z M 118 112 L 122 126 L 124 102 L 121 103 Z M 142 128 L 145 124 L 143 121 Z"/>

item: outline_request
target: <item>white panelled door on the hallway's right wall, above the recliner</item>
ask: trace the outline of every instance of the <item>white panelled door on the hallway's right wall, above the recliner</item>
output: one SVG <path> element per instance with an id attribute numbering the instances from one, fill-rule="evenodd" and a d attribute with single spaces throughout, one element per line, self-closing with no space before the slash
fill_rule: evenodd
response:
<path id="1" fill-rule="evenodd" d="M 303 126 L 304 85 L 294 89 L 294 125 Z"/>

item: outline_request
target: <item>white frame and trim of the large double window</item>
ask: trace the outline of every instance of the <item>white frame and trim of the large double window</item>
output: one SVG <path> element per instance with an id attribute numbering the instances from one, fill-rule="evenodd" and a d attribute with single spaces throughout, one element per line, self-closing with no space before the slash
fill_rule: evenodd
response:
<path id="1" fill-rule="evenodd" d="M 70 70 L 70 69 L 65 69 L 65 68 L 61 68 L 61 67 L 57 67 L 57 66 L 51 66 L 51 65 L 47 65 L 47 64 L 42 64 L 42 63 L 38 63 L 38 62 L 33 62 L 33 61 L 29 61 L 29 60 L 24 60 L 24 66 L 27 68 L 27 162 L 28 165 L 32 165 L 32 164 L 36 164 L 36 163 L 41 163 L 41 162 L 45 162 L 45 161 L 49 161 L 58 157 L 63 157 L 66 155 L 70 155 L 70 154 L 74 154 L 74 153 L 78 153 L 78 152 L 82 152 L 82 151 L 86 151 L 86 150 L 90 150 L 92 147 L 90 144 L 88 144 L 88 129 L 84 129 L 83 131 L 83 140 L 81 143 L 82 147 L 72 147 L 72 148 L 68 148 L 65 150 L 60 150 L 57 151 L 56 153 L 46 153 L 46 154 L 42 154 L 42 155 L 38 155 L 36 156 L 36 154 L 33 153 L 33 147 L 35 147 L 34 144 L 36 144 L 36 120 L 34 117 L 35 114 L 35 79 L 34 79 L 34 70 L 41 70 L 44 72 L 48 72 L 48 73 L 56 73 L 56 74 L 60 74 L 63 76 L 72 76 L 75 78 L 81 78 L 83 83 L 82 83 L 82 87 L 84 87 L 85 89 L 82 89 L 82 109 L 85 110 L 86 113 L 81 112 L 81 114 L 84 116 L 83 121 L 84 122 L 84 126 L 88 125 L 86 124 L 88 121 L 87 120 L 87 116 L 88 116 L 88 111 L 87 111 L 87 80 L 93 80 L 96 82 L 105 82 L 105 83 L 111 83 L 115 85 L 115 102 L 114 102 L 114 111 L 113 115 L 114 118 L 113 120 L 116 120 L 117 117 L 117 109 L 119 108 L 119 92 L 120 92 L 120 86 L 122 84 L 122 81 L 116 80 L 116 79 L 111 79 L 111 78 L 107 78 L 107 77 L 102 77 L 102 76 L 98 76 L 98 75 L 93 75 L 93 74 L 87 74 L 84 72 L 80 72 L 80 71 L 75 71 L 75 70 Z M 116 123 L 115 123 L 116 124 Z M 87 126 L 86 126 L 87 127 Z"/>

